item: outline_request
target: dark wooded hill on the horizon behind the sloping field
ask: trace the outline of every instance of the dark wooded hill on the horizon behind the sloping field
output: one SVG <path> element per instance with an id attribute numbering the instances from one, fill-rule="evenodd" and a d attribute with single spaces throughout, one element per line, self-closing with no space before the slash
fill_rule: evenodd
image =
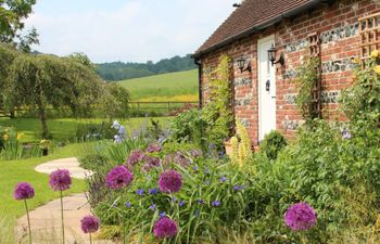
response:
<path id="1" fill-rule="evenodd" d="M 123 80 L 152 76 L 157 74 L 182 72 L 195 68 L 191 55 L 174 56 L 164 59 L 156 63 L 148 61 L 147 63 L 103 63 L 96 65 L 97 73 L 105 80 Z"/>

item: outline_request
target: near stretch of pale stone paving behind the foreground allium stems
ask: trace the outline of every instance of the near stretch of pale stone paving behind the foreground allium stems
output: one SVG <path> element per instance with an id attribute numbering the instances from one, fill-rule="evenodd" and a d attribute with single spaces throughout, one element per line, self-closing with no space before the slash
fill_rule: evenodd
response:
<path id="1" fill-rule="evenodd" d="M 91 215 L 86 195 L 72 194 L 63 198 L 63 214 L 65 223 L 65 244 L 87 244 L 88 234 L 80 230 L 80 219 Z M 61 200 L 54 200 L 29 213 L 31 224 L 31 236 L 36 244 L 61 243 Z M 23 216 L 17 220 L 18 236 L 26 236 L 27 217 Z M 93 244 L 112 244 L 110 241 L 94 240 Z"/>

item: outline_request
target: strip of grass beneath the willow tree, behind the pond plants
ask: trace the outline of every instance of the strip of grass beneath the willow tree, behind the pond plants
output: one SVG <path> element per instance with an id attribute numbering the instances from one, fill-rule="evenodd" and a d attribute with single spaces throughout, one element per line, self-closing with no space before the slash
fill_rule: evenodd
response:
<path id="1" fill-rule="evenodd" d="M 160 120 L 162 125 L 166 125 L 169 118 L 154 118 Z M 127 128 L 137 128 L 143 124 L 145 118 L 118 119 Z M 104 119 L 74 119 L 74 118 L 58 118 L 49 119 L 48 128 L 53 134 L 55 141 L 68 141 L 75 136 L 76 129 L 80 124 L 101 124 Z M 37 118 L 0 118 L 0 126 L 13 127 L 18 132 L 23 132 L 22 142 L 39 141 L 41 139 L 40 123 Z"/>

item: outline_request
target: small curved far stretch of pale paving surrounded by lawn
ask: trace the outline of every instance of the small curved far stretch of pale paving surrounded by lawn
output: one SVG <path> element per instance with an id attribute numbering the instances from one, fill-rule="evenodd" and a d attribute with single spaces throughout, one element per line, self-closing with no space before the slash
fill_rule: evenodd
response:
<path id="1" fill-rule="evenodd" d="M 43 172 L 50 175 L 56 169 L 67 169 L 71 172 L 71 177 L 76 179 L 85 179 L 91 176 L 90 170 L 86 170 L 79 167 L 79 162 L 76 157 L 61 158 L 56 160 L 51 160 L 41 165 L 38 165 L 35 170 L 37 172 Z"/>

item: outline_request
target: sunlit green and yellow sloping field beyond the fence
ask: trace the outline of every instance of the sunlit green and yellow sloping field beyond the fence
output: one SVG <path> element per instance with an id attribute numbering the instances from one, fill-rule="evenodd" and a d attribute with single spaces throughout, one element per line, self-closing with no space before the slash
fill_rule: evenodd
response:
<path id="1" fill-rule="evenodd" d="M 132 101 L 198 101 L 198 70 L 169 73 L 118 81 Z"/>

